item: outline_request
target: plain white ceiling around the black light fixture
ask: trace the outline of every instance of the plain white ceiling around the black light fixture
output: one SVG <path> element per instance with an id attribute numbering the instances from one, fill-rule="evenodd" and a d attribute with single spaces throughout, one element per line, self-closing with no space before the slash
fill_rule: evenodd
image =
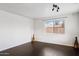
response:
<path id="1" fill-rule="evenodd" d="M 0 10 L 29 18 L 52 17 L 79 12 L 78 3 L 56 4 L 60 7 L 59 12 L 52 11 L 53 3 L 0 3 Z"/>

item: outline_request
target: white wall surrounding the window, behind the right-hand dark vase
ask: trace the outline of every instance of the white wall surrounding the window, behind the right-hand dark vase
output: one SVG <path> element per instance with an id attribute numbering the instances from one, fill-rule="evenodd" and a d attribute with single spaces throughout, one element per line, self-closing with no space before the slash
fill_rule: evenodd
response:
<path id="1" fill-rule="evenodd" d="M 44 19 L 35 20 L 35 35 L 38 41 L 46 43 L 54 43 L 60 45 L 73 46 L 74 37 L 79 37 L 79 14 L 67 15 L 63 18 L 65 21 L 65 33 L 46 33 L 44 30 Z"/>

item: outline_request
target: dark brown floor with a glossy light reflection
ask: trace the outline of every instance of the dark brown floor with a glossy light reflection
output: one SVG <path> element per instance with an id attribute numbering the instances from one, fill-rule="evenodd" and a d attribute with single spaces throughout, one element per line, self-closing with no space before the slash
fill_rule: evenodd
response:
<path id="1" fill-rule="evenodd" d="M 0 56 L 78 56 L 79 49 L 73 47 L 35 42 L 26 43 L 0 52 Z"/>

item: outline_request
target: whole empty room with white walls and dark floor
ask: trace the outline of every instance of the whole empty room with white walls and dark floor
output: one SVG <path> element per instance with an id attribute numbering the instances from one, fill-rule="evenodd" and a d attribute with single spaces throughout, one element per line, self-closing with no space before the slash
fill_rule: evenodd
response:
<path id="1" fill-rule="evenodd" d="M 0 3 L 0 56 L 79 56 L 79 3 Z"/>

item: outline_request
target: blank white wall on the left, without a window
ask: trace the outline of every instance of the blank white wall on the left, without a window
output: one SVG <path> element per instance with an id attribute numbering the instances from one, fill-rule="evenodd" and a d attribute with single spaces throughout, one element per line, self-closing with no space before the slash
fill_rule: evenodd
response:
<path id="1" fill-rule="evenodd" d="M 0 11 L 0 51 L 31 41 L 33 20 Z"/>

